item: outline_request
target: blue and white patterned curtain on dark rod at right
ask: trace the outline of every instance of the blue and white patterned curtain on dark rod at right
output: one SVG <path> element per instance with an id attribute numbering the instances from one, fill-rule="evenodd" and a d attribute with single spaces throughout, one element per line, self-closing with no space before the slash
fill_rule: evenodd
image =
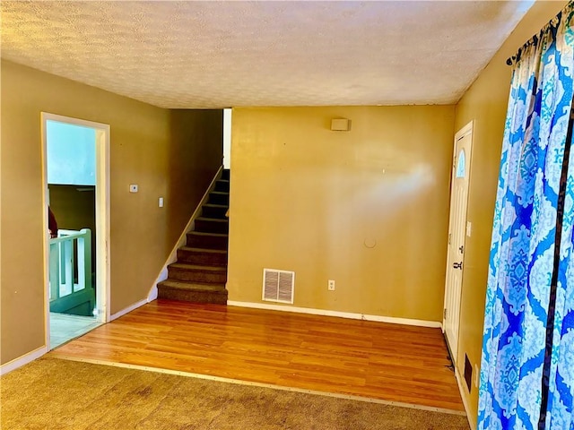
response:
<path id="1" fill-rule="evenodd" d="M 484 315 L 479 430 L 574 430 L 573 14 L 570 3 L 513 58 Z"/>

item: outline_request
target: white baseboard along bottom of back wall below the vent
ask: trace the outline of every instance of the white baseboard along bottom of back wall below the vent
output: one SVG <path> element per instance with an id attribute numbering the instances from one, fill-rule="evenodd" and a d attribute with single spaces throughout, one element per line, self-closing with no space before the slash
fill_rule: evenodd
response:
<path id="1" fill-rule="evenodd" d="M 252 307 L 255 309 L 267 309 L 270 311 L 294 312 L 294 313 L 299 313 L 299 314 L 336 316 L 339 318 L 349 318 L 352 320 L 375 321 L 378 323 L 416 325 L 419 327 L 431 327 L 431 328 L 440 328 L 441 327 L 441 324 L 438 321 L 413 320 L 410 318 L 395 318 L 393 316 L 354 314 L 351 312 L 328 311 L 326 309 L 313 309 L 310 307 L 269 305 L 266 303 L 237 302 L 234 300 L 228 300 L 227 305 L 239 306 L 239 307 Z"/>

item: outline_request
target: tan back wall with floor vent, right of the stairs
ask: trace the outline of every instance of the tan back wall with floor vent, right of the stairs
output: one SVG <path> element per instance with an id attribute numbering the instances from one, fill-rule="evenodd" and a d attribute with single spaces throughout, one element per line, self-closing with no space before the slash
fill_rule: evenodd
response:
<path id="1" fill-rule="evenodd" d="M 440 321 L 454 110 L 233 109 L 230 300 L 261 302 L 271 268 L 295 306 Z"/>

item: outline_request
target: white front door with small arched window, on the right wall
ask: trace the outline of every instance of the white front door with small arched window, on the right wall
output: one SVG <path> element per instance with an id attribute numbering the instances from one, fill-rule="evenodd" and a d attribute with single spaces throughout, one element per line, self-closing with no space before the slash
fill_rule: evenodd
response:
<path id="1" fill-rule="evenodd" d="M 450 193 L 450 222 L 448 227 L 447 279 L 445 285 L 445 311 L 443 330 L 453 362 L 457 361 L 460 297 L 465 269 L 465 236 L 470 236 L 467 226 L 466 207 L 470 160 L 473 142 L 472 123 L 455 136 L 453 170 Z"/>

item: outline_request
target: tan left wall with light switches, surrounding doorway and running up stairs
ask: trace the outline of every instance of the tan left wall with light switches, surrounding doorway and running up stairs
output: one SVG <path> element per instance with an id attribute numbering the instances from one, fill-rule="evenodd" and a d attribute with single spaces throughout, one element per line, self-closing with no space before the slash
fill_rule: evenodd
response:
<path id="1" fill-rule="evenodd" d="M 10 62 L 2 62 L 1 96 L 0 347 L 6 363 L 45 343 L 40 112 L 110 125 L 114 314 L 147 297 L 221 165 L 222 111 L 152 107 Z M 133 183 L 139 193 L 128 193 Z"/>

